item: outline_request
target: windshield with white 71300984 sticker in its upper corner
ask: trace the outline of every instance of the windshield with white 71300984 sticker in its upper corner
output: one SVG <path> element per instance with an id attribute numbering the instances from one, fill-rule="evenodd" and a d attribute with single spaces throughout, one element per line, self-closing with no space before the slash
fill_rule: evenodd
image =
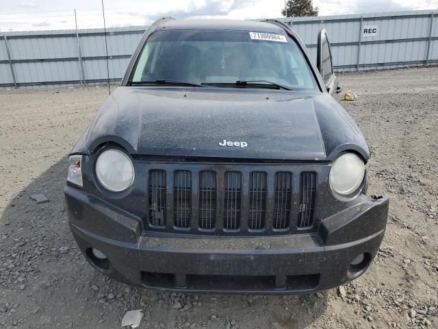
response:
<path id="1" fill-rule="evenodd" d="M 248 82 L 316 88 L 296 42 L 284 34 L 170 30 L 151 34 L 131 82 L 227 85 Z M 242 86 L 242 84 L 235 84 Z"/>

